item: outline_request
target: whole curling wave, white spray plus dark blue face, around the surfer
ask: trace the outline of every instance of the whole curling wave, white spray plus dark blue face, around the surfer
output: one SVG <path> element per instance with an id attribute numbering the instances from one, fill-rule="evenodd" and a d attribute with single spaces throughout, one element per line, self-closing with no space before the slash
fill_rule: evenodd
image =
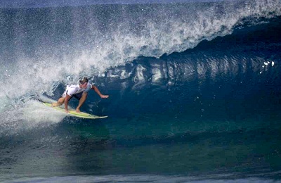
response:
<path id="1" fill-rule="evenodd" d="M 9 124 L 40 124 L 46 119 L 4 112 L 29 108 L 22 101 L 34 94 L 55 99 L 81 75 L 111 94 L 89 105 L 112 116 L 214 118 L 226 106 L 223 113 L 234 118 L 233 108 L 256 100 L 249 92 L 259 94 L 259 87 L 260 102 L 273 108 L 265 91 L 278 100 L 279 15 L 279 1 L 2 8 L 1 115 Z M 231 94 L 234 107 L 223 101 Z"/>

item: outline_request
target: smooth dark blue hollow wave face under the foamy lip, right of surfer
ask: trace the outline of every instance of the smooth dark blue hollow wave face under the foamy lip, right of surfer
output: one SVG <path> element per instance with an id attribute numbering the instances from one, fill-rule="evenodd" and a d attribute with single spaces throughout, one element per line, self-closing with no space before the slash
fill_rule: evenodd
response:
<path id="1" fill-rule="evenodd" d="M 114 106 L 110 113 L 169 111 L 216 119 L 222 118 L 217 116 L 220 111 L 233 119 L 237 113 L 242 117 L 275 111 L 280 93 L 280 37 L 275 34 L 279 23 L 274 19 L 243 27 L 195 49 L 157 59 L 141 57 L 108 70 L 107 89 L 117 88 L 120 102 L 129 103 Z"/>

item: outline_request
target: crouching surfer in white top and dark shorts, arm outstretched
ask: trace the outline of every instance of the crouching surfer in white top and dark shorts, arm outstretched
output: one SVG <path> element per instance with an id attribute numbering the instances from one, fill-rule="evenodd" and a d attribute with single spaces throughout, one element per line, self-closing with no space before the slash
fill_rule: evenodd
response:
<path id="1" fill-rule="evenodd" d="M 101 94 L 98 88 L 93 84 L 90 84 L 87 77 L 84 77 L 83 80 L 78 81 L 78 84 L 67 85 L 65 92 L 62 94 L 60 99 L 58 99 L 58 102 L 52 103 L 52 107 L 61 106 L 63 105 L 63 103 L 65 103 L 65 112 L 68 113 L 68 101 L 70 101 L 70 99 L 72 99 L 72 97 L 74 96 L 74 98 L 79 100 L 76 112 L 80 113 L 80 108 L 86 101 L 88 92 L 91 89 L 95 90 L 95 92 L 100 96 L 100 98 L 108 98 L 108 95 Z"/>

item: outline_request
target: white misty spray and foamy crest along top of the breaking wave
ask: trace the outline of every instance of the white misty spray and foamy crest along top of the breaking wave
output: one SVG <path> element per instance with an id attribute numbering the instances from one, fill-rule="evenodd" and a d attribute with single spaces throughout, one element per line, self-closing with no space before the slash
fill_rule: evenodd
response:
<path id="1" fill-rule="evenodd" d="M 192 49 L 231 34 L 244 18 L 277 15 L 278 1 L 2 9 L 1 84 L 11 98 L 51 94 L 54 82 Z M 14 84 L 20 91 L 9 87 Z"/>

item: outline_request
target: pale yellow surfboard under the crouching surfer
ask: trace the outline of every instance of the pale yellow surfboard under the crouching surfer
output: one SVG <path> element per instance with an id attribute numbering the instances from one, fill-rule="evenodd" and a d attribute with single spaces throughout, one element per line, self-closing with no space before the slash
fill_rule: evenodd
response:
<path id="1" fill-rule="evenodd" d="M 52 107 L 52 104 L 51 103 L 47 103 L 47 102 L 44 102 L 44 101 L 41 101 L 41 103 L 43 103 L 45 106 L 48 106 L 48 107 L 51 107 L 57 111 L 60 111 L 62 113 L 65 113 L 65 108 L 62 108 L 61 106 L 55 106 L 55 107 Z M 98 116 L 98 115 L 91 115 L 89 113 L 77 113 L 74 109 L 69 109 L 68 111 L 70 111 L 69 113 L 67 113 L 67 115 L 71 115 L 71 116 L 74 116 L 74 117 L 77 117 L 77 118 L 85 118 L 85 119 L 100 119 L 100 118 L 107 118 L 107 115 L 105 116 Z"/>

